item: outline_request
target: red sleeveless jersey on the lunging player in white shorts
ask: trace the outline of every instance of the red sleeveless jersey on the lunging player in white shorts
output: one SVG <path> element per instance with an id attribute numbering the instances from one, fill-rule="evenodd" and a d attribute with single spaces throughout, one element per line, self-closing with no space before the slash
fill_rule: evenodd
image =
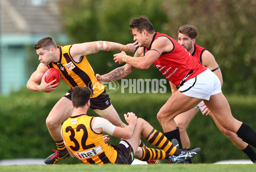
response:
<path id="1" fill-rule="evenodd" d="M 158 37 L 167 37 L 173 44 L 170 52 L 163 52 L 160 57 L 153 63 L 157 69 L 176 86 L 181 86 L 186 80 L 189 80 L 207 68 L 192 57 L 176 40 L 166 34 L 156 32 L 152 39 L 151 45 Z M 144 47 L 144 55 L 151 49 Z"/>

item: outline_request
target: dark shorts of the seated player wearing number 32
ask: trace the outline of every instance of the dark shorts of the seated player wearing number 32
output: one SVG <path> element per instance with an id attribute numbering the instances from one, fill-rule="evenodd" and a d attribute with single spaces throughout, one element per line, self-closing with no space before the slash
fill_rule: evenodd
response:
<path id="1" fill-rule="evenodd" d="M 121 139 L 119 145 L 111 145 L 117 151 L 116 164 L 131 164 L 134 161 L 134 151 L 126 140 Z"/>

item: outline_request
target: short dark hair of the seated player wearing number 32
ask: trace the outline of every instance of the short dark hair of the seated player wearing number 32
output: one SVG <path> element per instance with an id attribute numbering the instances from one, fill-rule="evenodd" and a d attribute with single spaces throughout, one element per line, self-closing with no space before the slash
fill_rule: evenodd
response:
<path id="1" fill-rule="evenodd" d="M 84 106 L 90 100 L 92 95 L 93 94 L 89 88 L 83 86 L 75 86 L 71 93 L 74 107 L 78 108 Z"/>

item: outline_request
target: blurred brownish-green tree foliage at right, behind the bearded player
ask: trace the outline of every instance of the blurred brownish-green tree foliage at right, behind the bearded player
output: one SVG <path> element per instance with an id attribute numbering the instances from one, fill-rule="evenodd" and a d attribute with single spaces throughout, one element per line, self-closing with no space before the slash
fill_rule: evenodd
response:
<path id="1" fill-rule="evenodd" d="M 166 0 L 164 3 L 164 10 L 175 26 L 165 31 L 176 37 L 177 29 L 183 24 L 198 27 L 196 43 L 215 56 L 225 92 L 256 93 L 254 0 L 173 0 L 172 3 Z"/>

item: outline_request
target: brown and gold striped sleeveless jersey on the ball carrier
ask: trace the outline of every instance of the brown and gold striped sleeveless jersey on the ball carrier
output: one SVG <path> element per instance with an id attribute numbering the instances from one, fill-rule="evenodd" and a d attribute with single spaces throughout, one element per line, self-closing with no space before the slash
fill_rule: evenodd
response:
<path id="1" fill-rule="evenodd" d="M 77 63 L 70 55 L 69 46 L 58 46 L 60 50 L 60 60 L 58 62 L 51 62 L 48 68 L 56 68 L 60 72 L 60 77 L 69 86 L 87 86 L 92 92 L 93 97 L 97 97 L 105 90 L 105 86 L 100 83 L 95 77 L 92 67 L 87 61 L 86 57 L 82 57 L 81 62 Z"/>

